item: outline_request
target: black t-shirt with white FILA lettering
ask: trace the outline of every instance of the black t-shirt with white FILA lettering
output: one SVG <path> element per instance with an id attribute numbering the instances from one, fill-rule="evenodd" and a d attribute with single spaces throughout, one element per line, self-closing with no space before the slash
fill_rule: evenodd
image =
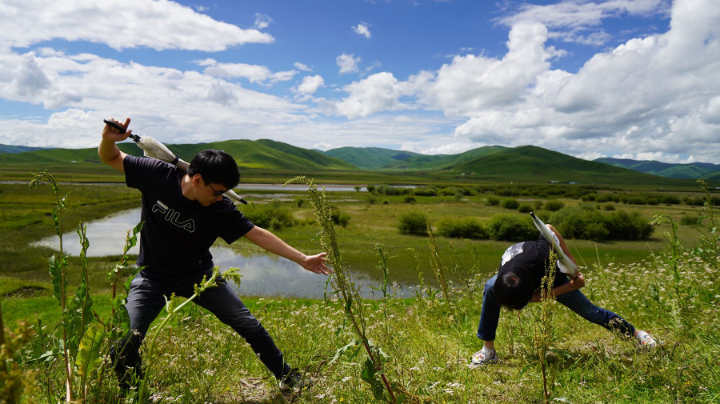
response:
<path id="1" fill-rule="evenodd" d="M 142 192 L 138 266 L 158 280 L 181 279 L 213 267 L 210 247 L 218 237 L 228 244 L 255 225 L 228 199 L 202 206 L 183 196 L 185 172 L 152 158 L 125 156 L 127 186 Z"/>

